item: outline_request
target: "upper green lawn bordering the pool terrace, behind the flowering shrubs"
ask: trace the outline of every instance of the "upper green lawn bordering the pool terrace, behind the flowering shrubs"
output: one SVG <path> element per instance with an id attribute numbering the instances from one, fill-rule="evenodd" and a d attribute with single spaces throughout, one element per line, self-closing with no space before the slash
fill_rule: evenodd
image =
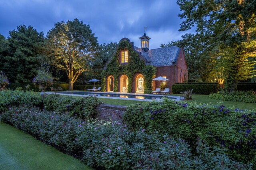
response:
<path id="1" fill-rule="evenodd" d="M 171 94 L 172 96 L 180 96 L 179 94 Z M 129 106 L 130 104 L 136 104 L 136 103 L 143 103 L 142 101 L 138 100 L 119 100 L 119 99 L 108 99 L 108 98 L 98 98 L 102 102 L 106 104 L 114 104 L 114 105 L 121 105 L 121 106 Z M 220 104 L 226 106 L 226 107 L 235 107 L 240 109 L 256 109 L 255 103 L 243 103 L 243 102 L 230 102 L 230 101 L 220 101 L 220 100 L 214 100 L 208 98 L 208 95 L 199 95 L 194 94 L 193 100 L 185 100 L 184 102 L 198 102 L 198 103 L 211 103 L 211 104 Z"/>

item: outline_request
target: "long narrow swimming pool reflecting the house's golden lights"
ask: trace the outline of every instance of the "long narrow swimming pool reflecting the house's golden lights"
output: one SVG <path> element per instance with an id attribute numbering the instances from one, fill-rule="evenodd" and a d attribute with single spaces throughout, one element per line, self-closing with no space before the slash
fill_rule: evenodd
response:
<path id="1" fill-rule="evenodd" d="M 103 96 L 103 97 L 116 97 L 116 98 L 132 98 L 132 99 L 162 99 L 163 97 L 168 96 L 160 96 L 160 95 L 140 95 L 140 94 L 115 94 L 115 93 L 100 93 L 100 92 L 58 92 L 60 94 L 79 94 L 79 95 L 89 95 L 89 96 Z M 168 97 L 170 99 L 176 99 L 172 97 Z"/>

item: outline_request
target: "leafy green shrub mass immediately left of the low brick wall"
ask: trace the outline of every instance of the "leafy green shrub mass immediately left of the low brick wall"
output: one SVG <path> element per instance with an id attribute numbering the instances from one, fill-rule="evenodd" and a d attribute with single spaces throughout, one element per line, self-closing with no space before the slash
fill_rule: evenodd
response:
<path id="1" fill-rule="evenodd" d="M 82 119 L 95 118 L 96 107 L 100 102 L 95 97 L 74 97 L 50 94 L 44 99 L 44 108 L 48 111 L 62 113 L 67 111 L 72 116 Z"/>

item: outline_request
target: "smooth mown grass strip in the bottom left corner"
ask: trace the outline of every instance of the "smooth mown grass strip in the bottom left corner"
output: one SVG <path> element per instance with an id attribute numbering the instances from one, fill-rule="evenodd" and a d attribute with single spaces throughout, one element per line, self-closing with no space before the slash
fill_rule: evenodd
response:
<path id="1" fill-rule="evenodd" d="M 0 122 L 1 170 L 92 170 L 68 154 Z"/>

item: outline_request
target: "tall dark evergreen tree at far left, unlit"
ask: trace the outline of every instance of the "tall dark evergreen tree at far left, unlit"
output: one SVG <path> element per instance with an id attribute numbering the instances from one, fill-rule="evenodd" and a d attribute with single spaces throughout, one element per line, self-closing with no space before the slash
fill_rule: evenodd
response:
<path id="1" fill-rule="evenodd" d="M 32 26 L 20 25 L 0 39 L 0 68 L 10 82 L 31 82 L 39 61 L 44 59 L 44 33 Z"/>

